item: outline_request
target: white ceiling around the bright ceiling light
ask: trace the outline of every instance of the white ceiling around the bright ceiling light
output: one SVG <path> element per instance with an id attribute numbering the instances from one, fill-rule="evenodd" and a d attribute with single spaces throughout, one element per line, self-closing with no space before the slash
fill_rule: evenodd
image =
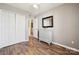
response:
<path id="1" fill-rule="evenodd" d="M 37 4 L 39 6 L 39 9 L 35 9 L 33 7 L 33 4 L 36 4 L 36 3 L 8 3 L 8 5 L 28 11 L 32 15 L 38 15 L 45 11 L 51 10 L 52 8 L 57 7 L 61 5 L 62 3 L 39 3 Z"/>

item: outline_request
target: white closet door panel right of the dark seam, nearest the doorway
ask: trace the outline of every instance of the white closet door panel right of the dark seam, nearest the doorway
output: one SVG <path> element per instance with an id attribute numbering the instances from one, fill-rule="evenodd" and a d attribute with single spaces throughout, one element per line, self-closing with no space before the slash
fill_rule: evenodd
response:
<path id="1" fill-rule="evenodd" d="M 25 16 L 16 14 L 16 40 L 25 41 Z"/>

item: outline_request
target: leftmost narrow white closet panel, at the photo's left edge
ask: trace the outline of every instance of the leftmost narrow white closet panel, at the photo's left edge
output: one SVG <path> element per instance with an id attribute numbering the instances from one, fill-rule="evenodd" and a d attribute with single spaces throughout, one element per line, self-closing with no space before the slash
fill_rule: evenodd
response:
<path id="1" fill-rule="evenodd" d="M 1 15 L 1 42 L 3 47 L 8 45 L 8 12 L 2 11 Z"/>

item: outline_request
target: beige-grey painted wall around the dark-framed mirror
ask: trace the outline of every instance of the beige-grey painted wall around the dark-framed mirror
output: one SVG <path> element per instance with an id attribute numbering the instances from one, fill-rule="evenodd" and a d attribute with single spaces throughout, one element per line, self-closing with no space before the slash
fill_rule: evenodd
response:
<path id="1" fill-rule="evenodd" d="M 54 42 L 79 49 L 79 4 L 63 4 L 38 17 L 39 30 L 42 28 L 42 18 L 53 15 L 54 27 L 47 28 L 54 32 Z M 45 30 L 47 30 L 45 29 Z"/>

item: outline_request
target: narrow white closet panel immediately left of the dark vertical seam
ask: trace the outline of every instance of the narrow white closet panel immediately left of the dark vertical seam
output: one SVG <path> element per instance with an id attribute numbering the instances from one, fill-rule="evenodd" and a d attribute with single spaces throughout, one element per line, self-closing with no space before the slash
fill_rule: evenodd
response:
<path id="1" fill-rule="evenodd" d="M 13 12 L 10 12 L 8 13 L 8 17 L 9 17 L 9 20 L 8 20 L 8 30 L 9 30 L 9 39 L 8 39 L 8 43 L 9 44 L 14 44 L 16 42 L 16 38 L 15 38 L 15 13 Z"/>

